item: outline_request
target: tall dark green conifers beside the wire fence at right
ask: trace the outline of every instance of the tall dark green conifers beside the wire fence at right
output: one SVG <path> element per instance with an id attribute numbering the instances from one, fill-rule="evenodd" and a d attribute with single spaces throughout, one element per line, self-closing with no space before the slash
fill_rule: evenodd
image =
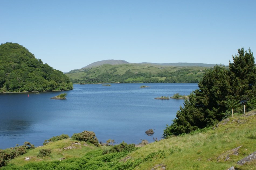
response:
<path id="1" fill-rule="evenodd" d="M 177 112 L 172 125 L 164 130 L 164 137 L 189 133 L 198 128 L 214 125 L 222 120 L 231 107 L 242 103 L 254 106 L 256 102 L 256 68 L 251 50 L 238 49 L 229 70 L 215 66 L 206 70 L 189 100 Z"/>

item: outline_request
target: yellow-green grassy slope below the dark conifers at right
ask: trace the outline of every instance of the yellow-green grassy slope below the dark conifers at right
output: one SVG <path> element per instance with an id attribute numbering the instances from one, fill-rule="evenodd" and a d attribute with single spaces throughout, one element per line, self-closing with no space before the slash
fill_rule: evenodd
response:
<path id="1" fill-rule="evenodd" d="M 256 160 L 246 166 L 236 162 L 256 151 L 256 115 L 230 118 L 226 125 L 219 124 L 214 130 L 195 135 L 177 136 L 147 145 L 130 154 L 133 159 L 152 151 L 163 150 L 166 157 L 145 162 L 136 169 L 147 169 L 164 164 L 166 169 L 255 169 Z M 238 155 L 232 149 L 242 146 Z M 143 154 L 141 154 L 143 153 Z M 230 159 L 224 161 L 230 154 Z"/>

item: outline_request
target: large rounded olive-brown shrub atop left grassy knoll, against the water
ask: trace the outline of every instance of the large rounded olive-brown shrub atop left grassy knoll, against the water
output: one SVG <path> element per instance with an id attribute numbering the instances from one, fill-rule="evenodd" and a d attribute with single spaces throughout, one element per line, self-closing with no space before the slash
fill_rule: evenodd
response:
<path id="1" fill-rule="evenodd" d="M 71 137 L 74 140 L 85 141 L 94 144 L 95 146 L 99 146 L 99 141 L 96 138 L 96 135 L 92 131 L 84 131 L 81 133 L 74 133 Z"/>

